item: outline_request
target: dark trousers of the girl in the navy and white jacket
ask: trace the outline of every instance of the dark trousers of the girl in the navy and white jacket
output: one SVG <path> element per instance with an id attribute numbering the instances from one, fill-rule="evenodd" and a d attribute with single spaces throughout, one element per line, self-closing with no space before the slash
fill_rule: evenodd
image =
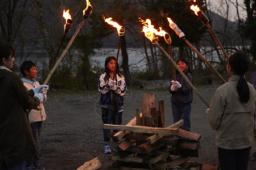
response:
<path id="1" fill-rule="evenodd" d="M 121 125 L 122 124 L 122 113 L 119 112 L 117 108 L 115 107 L 108 107 L 108 108 L 101 108 L 102 114 L 102 122 L 103 124 L 112 124 L 112 125 Z M 118 130 L 113 130 L 114 132 L 117 132 Z M 110 138 L 108 137 L 108 134 L 110 132 L 110 129 L 103 129 L 103 137 L 104 137 L 104 143 L 109 144 Z"/>

